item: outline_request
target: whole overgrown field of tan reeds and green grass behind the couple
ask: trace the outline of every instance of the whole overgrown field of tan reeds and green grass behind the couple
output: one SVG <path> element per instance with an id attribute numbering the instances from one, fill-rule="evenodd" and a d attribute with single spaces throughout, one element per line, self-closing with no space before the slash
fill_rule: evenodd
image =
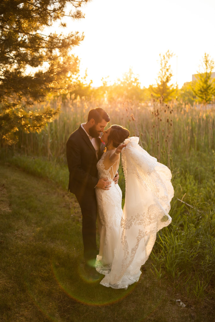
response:
<path id="1" fill-rule="evenodd" d="M 128 128 L 130 136 L 138 136 L 139 144 L 172 172 L 172 223 L 157 234 L 150 255 L 151 272 L 158 281 L 168 281 L 188 298 L 211 300 L 215 268 L 215 108 L 174 101 L 164 104 L 118 99 L 110 103 L 79 97 L 50 99 L 34 108 L 47 106 L 61 108 L 54 122 L 40 133 L 20 132 L 19 143 L 8 147 L 2 157 L 32 174 L 52 179 L 66 190 L 66 141 L 86 121 L 90 109 L 105 109 L 110 125 Z M 119 170 L 124 197 L 124 176 L 121 167 Z"/>

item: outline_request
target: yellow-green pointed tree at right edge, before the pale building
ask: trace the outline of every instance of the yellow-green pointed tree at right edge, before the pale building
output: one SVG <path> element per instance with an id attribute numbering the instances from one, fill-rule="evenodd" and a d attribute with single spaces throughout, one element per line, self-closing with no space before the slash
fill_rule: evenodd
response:
<path id="1" fill-rule="evenodd" d="M 214 61 L 208 54 L 202 58 L 203 72 L 199 71 L 196 81 L 193 82 L 192 89 L 197 96 L 197 101 L 203 104 L 210 103 L 215 96 L 215 80 L 211 79 L 211 73 L 214 68 Z"/>

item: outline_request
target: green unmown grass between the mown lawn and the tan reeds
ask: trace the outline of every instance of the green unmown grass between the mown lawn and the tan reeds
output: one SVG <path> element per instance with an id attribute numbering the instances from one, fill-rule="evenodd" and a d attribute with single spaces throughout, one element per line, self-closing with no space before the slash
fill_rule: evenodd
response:
<path id="1" fill-rule="evenodd" d="M 31 174 L 47 177 L 64 189 L 67 187 L 67 166 L 24 155 L 16 155 L 8 161 Z M 174 165 L 172 223 L 158 233 L 151 254 L 151 271 L 159 280 L 161 277 L 172 279 L 174 289 L 180 289 L 184 296 L 210 299 L 215 266 L 214 154 L 193 153 L 184 160 L 175 157 Z M 121 167 L 119 173 L 123 205 L 125 185 Z"/>

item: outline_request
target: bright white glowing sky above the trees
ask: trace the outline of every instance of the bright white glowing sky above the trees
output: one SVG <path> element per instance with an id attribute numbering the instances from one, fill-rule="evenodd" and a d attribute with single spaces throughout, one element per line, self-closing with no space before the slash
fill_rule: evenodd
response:
<path id="1" fill-rule="evenodd" d="M 84 32 L 73 53 L 93 86 L 122 78 L 130 67 L 142 86 L 156 84 L 159 54 L 170 50 L 171 83 L 181 88 L 205 52 L 215 60 L 215 0 L 92 0 L 82 11 L 85 18 L 67 28 Z"/>

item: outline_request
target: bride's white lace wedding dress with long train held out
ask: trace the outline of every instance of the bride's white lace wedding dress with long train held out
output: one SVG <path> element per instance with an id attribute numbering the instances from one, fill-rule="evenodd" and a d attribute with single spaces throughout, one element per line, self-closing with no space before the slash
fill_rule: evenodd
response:
<path id="1" fill-rule="evenodd" d="M 105 277 L 102 285 L 127 288 L 138 281 L 156 233 L 171 223 L 170 201 L 174 190 L 171 171 L 138 144 L 138 137 L 125 140 L 122 166 L 125 175 L 125 204 L 122 192 L 112 182 L 109 190 L 96 189 L 99 213 L 100 251 L 96 270 Z M 106 153 L 97 163 L 99 178 L 112 180 L 119 160 L 107 166 Z M 105 161 L 105 162 L 104 162 Z"/>

